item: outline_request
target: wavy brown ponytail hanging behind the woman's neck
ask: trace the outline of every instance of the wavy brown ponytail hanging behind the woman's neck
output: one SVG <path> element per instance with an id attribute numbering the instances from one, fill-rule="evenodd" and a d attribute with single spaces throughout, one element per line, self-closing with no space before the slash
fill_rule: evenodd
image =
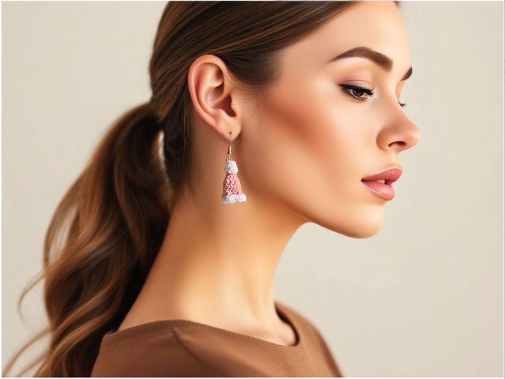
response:
<path id="1" fill-rule="evenodd" d="M 151 103 L 114 122 L 49 223 L 39 278 L 51 334 L 35 376 L 89 376 L 104 333 L 119 326 L 161 246 L 169 183 Z M 62 235 L 66 234 L 66 238 Z M 60 242 L 63 241 L 63 242 Z"/>

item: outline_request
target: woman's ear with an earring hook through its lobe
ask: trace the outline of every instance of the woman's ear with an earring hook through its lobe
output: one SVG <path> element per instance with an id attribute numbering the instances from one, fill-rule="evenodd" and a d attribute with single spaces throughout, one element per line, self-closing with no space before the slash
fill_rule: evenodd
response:
<path id="1" fill-rule="evenodd" d="M 226 141 L 240 133 L 241 109 L 238 89 L 224 62 L 205 54 L 189 67 L 187 84 L 195 111 Z"/>

